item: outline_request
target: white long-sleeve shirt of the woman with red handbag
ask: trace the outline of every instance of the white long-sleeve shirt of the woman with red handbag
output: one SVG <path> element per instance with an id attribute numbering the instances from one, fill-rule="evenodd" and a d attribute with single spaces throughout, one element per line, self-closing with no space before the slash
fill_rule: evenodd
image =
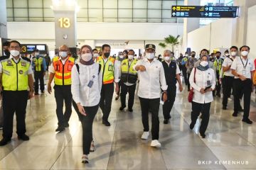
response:
<path id="1" fill-rule="evenodd" d="M 207 81 L 210 82 L 211 89 L 215 89 L 215 73 L 213 69 L 207 69 L 206 71 L 201 71 L 196 69 L 196 83 L 194 83 L 194 73 L 195 68 L 192 69 L 191 75 L 189 77 L 189 83 L 193 87 L 193 101 L 196 103 L 210 103 L 213 101 L 213 92 L 208 91 L 205 94 L 201 94 L 200 90 L 205 89 L 208 86 Z"/>

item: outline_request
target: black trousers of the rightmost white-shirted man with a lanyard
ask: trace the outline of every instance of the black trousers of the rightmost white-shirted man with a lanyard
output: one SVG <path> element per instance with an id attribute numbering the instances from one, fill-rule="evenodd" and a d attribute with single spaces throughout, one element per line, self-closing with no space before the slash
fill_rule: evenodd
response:
<path id="1" fill-rule="evenodd" d="M 250 113 L 250 96 L 252 93 L 252 80 L 246 79 L 242 81 L 240 79 L 234 79 L 233 81 L 234 89 L 234 113 L 238 113 L 240 106 L 241 91 L 244 94 L 244 119 L 249 118 Z"/>

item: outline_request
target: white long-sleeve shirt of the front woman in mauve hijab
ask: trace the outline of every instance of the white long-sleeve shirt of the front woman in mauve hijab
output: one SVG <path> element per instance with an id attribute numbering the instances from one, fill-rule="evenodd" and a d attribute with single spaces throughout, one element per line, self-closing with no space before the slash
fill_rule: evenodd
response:
<path id="1" fill-rule="evenodd" d="M 78 63 L 79 72 L 76 66 L 71 71 L 71 92 L 75 103 L 81 103 L 82 106 L 96 106 L 100 103 L 100 91 L 102 88 L 102 73 L 99 73 L 99 64 L 84 65 Z M 93 81 L 91 87 L 89 82 Z"/>

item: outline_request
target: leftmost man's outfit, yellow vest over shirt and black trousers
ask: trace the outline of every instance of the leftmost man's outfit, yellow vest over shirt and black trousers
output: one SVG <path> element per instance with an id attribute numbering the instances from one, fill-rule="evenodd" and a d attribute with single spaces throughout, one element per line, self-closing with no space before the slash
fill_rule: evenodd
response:
<path id="1" fill-rule="evenodd" d="M 15 60 L 14 57 L 1 57 L 1 85 L 3 88 L 4 127 L 3 137 L 11 140 L 13 133 L 14 113 L 19 139 L 26 133 L 26 106 L 28 101 L 28 74 L 32 74 L 31 61 L 26 57 Z M 26 140 L 29 140 L 26 139 Z"/>

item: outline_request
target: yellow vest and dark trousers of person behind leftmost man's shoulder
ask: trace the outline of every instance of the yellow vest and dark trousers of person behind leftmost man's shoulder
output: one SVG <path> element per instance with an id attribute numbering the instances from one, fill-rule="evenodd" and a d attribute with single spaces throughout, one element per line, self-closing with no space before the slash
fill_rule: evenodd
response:
<path id="1" fill-rule="evenodd" d="M 32 58 L 32 66 L 34 70 L 35 78 L 35 94 L 38 94 L 38 83 L 40 81 L 41 93 L 44 92 L 44 72 L 46 72 L 46 60 L 42 56 L 36 56 Z M 39 81 L 38 81 L 39 80 Z"/>

